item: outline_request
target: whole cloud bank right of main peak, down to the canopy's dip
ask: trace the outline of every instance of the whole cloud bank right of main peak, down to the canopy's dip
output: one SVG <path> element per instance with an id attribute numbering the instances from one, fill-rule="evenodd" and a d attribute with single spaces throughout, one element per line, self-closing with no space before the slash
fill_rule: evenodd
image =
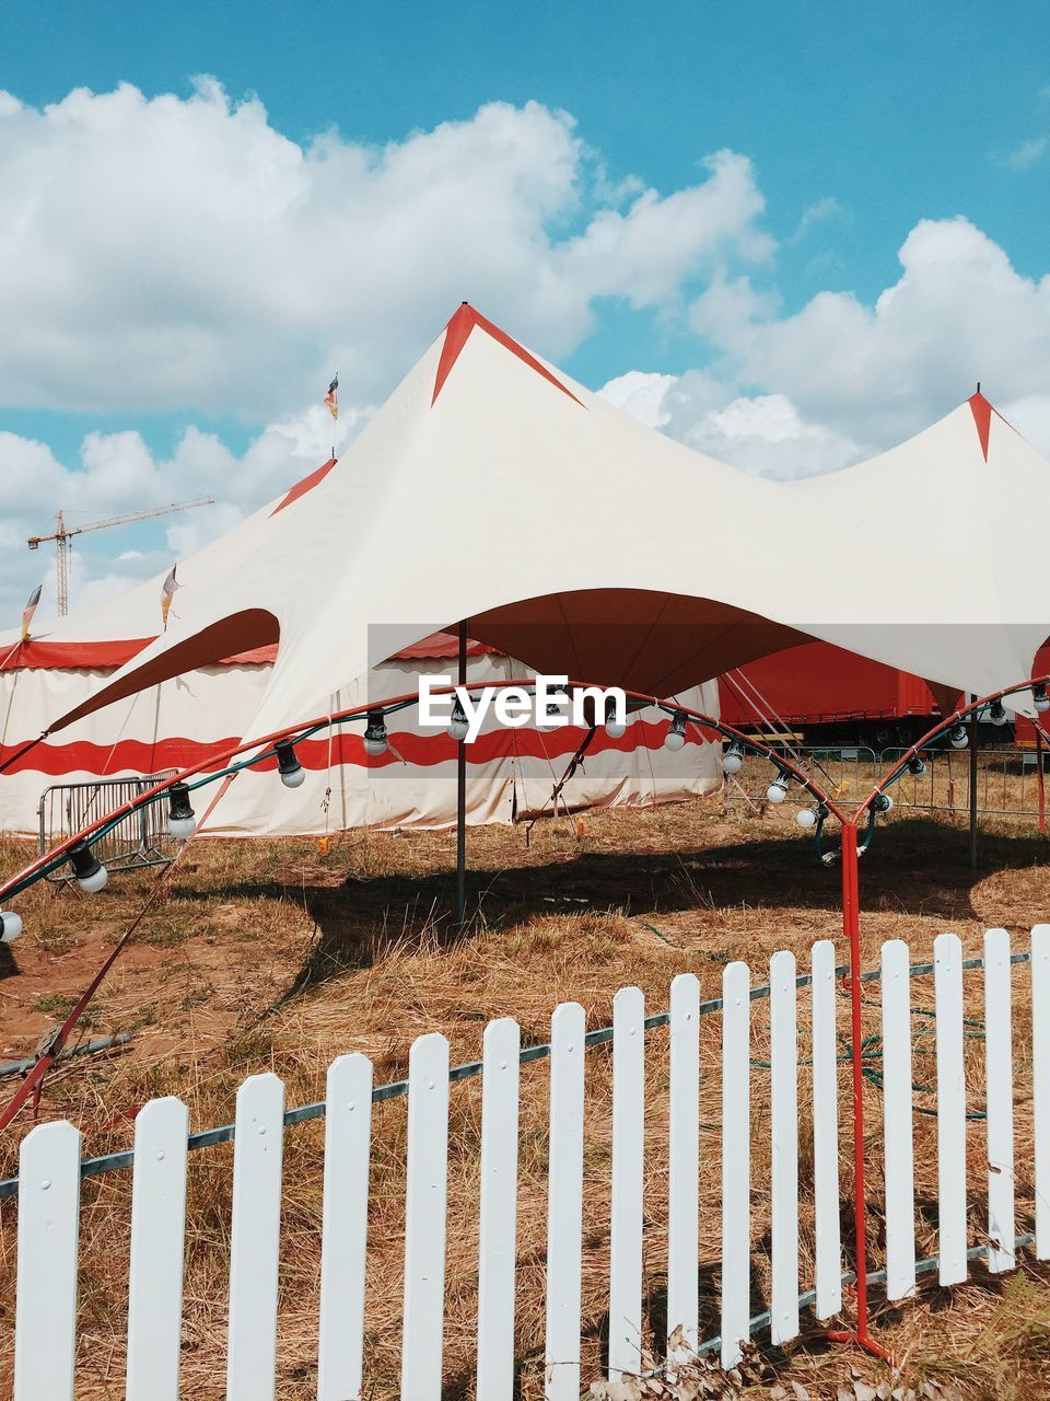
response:
<path id="1" fill-rule="evenodd" d="M 711 457 L 797 476 L 903 441 L 980 380 L 1050 455 L 1050 275 L 1022 276 L 965 219 L 923 220 L 900 265 L 872 304 L 820 293 L 788 317 L 746 277 L 715 277 L 690 307 L 715 360 L 602 392 Z"/>

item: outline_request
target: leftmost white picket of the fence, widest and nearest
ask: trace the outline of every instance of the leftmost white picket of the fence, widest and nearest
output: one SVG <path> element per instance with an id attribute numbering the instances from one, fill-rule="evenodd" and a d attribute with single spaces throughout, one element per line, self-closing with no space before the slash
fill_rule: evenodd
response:
<path id="1" fill-rule="evenodd" d="M 14 1401 L 73 1401 L 80 1133 L 41 1124 L 18 1154 Z"/>

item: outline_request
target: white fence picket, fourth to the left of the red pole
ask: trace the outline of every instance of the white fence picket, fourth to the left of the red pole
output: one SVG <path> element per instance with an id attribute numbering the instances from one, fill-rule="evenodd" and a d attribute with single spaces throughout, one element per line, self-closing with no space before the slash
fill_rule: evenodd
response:
<path id="1" fill-rule="evenodd" d="M 699 1334 L 700 1267 L 700 979 L 671 984 L 671 1115 L 668 1168 L 668 1356 L 680 1328 L 682 1353 Z"/>

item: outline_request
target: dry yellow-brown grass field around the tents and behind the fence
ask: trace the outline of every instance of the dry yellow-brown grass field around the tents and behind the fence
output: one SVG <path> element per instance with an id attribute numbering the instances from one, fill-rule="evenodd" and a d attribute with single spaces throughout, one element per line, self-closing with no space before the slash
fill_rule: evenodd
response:
<path id="1" fill-rule="evenodd" d="M 0 846 L 6 871 L 25 848 Z M 340 1052 L 363 1051 L 377 1083 L 399 1079 L 413 1037 L 442 1031 L 452 1063 L 480 1055 L 484 1021 L 514 1016 L 525 1044 L 546 1041 L 560 1000 L 584 1005 L 588 1024 L 610 1021 L 617 988 L 637 984 L 647 1007 L 662 1010 L 675 974 L 699 975 L 701 995 L 715 996 L 722 967 L 745 958 L 756 984 L 766 982 L 770 954 L 792 950 L 799 964 L 820 937 L 839 937 L 839 871 L 813 859 L 791 813 L 725 817 L 717 799 L 651 811 L 592 814 L 540 822 L 525 845 L 521 829 L 469 834 L 469 929 L 451 920 L 451 834 L 354 832 L 321 852 L 312 841 L 197 842 L 171 887 L 147 916 L 91 1012 L 87 1035 L 133 1034 L 120 1055 L 70 1062 L 46 1083 L 42 1118 L 69 1117 L 84 1132 L 90 1156 L 127 1147 L 137 1107 L 178 1094 L 193 1129 L 228 1122 L 234 1096 L 249 1073 L 272 1069 L 287 1086 L 288 1105 L 323 1097 L 325 1070 Z M 0 972 L 0 1056 L 28 1055 L 127 920 L 155 877 L 113 880 L 101 897 L 38 885 L 18 902 L 27 932 Z M 1005 926 L 1016 947 L 1050 916 L 1050 846 L 1030 828 L 986 834 L 981 869 L 967 863 L 959 822 L 900 817 L 876 835 L 864 857 L 862 932 L 865 965 L 876 967 L 882 940 L 906 939 L 913 961 L 931 957 L 944 930 L 959 933 L 965 953 L 980 953 L 986 927 Z M 872 989 L 878 996 L 876 988 Z M 1021 1229 L 1032 1210 L 1030 1040 L 1028 976 L 1015 971 L 1016 1189 Z M 981 1017 L 980 976 L 967 974 L 967 1016 Z M 916 982 L 916 1003 L 932 1006 L 931 979 Z M 878 1024 L 875 1003 L 865 1009 Z M 932 1079 L 931 1037 L 916 1019 L 916 1079 Z M 753 1056 L 764 1059 L 767 1003 L 753 1007 Z M 846 1030 L 846 1003 L 840 1030 Z M 717 1332 L 720 1248 L 720 1023 L 701 1027 L 701 1309 L 703 1330 Z M 806 1055 L 808 1000 L 799 998 L 799 1055 Z M 983 1104 L 981 1041 L 967 1040 L 970 1107 Z M 662 1327 L 666 1201 L 666 1033 L 650 1033 L 645 1268 L 647 1318 Z M 608 1306 L 608 1212 L 610 1058 L 589 1052 L 585 1194 L 585 1372 L 601 1369 Z M 6 1082 L 7 1093 L 14 1080 Z M 547 1062 L 522 1069 L 521 1208 L 518 1227 L 518 1346 L 522 1401 L 542 1395 L 543 1261 L 546 1222 Z M 840 1075 L 840 1175 L 848 1199 L 848 1066 Z M 804 1278 L 812 1248 L 812 1138 L 808 1070 L 799 1076 L 799 1143 Z M 932 1097 L 917 1094 L 930 1108 Z M 875 1209 L 872 1255 L 881 1262 L 881 1098 L 868 1090 L 868 1157 Z M 0 1173 L 17 1171 L 24 1112 L 0 1143 Z M 479 1080 L 452 1087 L 449 1247 L 447 1285 L 447 1395 L 473 1397 L 472 1330 L 477 1292 Z M 316 1307 L 321 1220 L 319 1122 L 288 1129 L 283 1217 L 279 1395 L 307 1398 L 316 1370 Z M 983 1238 L 987 1159 L 984 1124 L 969 1126 L 970 1243 Z M 766 1306 L 769 1080 L 752 1073 L 755 1168 L 755 1310 Z M 210 1401 L 224 1394 L 225 1271 L 228 1267 L 228 1145 L 193 1154 L 188 1205 L 185 1395 Z M 916 1119 L 918 1244 L 937 1251 L 935 1122 Z M 400 1254 L 405 1209 L 405 1101 L 378 1104 L 374 1114 L 372 1199 L 367 1316 L 368 1395 L 398 1391 Z M 112 1173 L 84 1185 L 78 1398 L 123 1395 L 123 1330 L 129 1229 L 129 1174 Z M 13 1201 L 0 1203 L 0 1311 L 3 1358 L 10 1377 L 14 1318 Z M 851 1219 L 843 1217 L 848 1237 Z M 1050 1271 L 1023 1258 L 1005 1279 L 976 1265 L 967 1285 L 938 1289 L 935 1276 L 918 1299 L 874 1307 L 881 1339 L 900 1362 L 883 1366 L 829 1348 L 812 1320 L 811 1337 L 785 1351 L 766 1348 L 766 1377 L 748 1394 L 804 1387 L 811 1397 L 864 1393 L 865 1384 L 928 1387 L 927 1394 L 1035 1397 L 1050 1393 Z M 851 1374 L 851 1367 L 857 1374 Z M 858 1380 L 860 1377 L 860 1380 Z M 10 1383 L 4 1383 L 10 1384 Z M 938 1388 L 948 1388 L 938 1391 Z M 734 1393 L 735 1394 L 735 1393 Z M 885 1394 L 889 1394 L 886 1391 Z M 904 1391 L 900 1393 L 906 1394 Z M 921 1394 L 921 1391 L 920 1391 Z"/>

